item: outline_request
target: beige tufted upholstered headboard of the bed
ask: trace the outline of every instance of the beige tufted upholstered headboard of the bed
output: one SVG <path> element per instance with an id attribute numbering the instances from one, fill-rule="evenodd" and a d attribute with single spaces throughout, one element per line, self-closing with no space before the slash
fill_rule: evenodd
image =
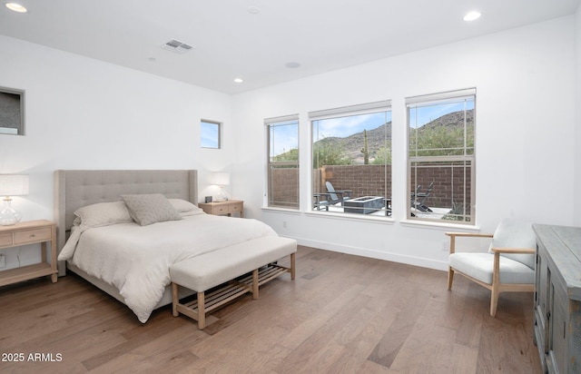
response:
<path id="1" fill-rule="evenodd" d="M 71 230 L 74 211 L 97 202 L 116 202 L 123 193 L 162 193 L 198 204 L 195 170 L 57 170 L 54 172 L 54 220 L 57 252 Z M 64 275 L 64 263 L 59 262 Z"/>

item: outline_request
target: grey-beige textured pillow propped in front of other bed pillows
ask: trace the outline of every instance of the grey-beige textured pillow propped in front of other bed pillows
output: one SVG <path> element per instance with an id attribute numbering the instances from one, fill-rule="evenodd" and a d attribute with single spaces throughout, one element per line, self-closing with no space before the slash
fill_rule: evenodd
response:
<path id="1" fill-rule="evenodd" d="M 156 222 L 182 220 L 172 203 L 161 193 L 121 195 L 133 221 L 142 226 Z"/>

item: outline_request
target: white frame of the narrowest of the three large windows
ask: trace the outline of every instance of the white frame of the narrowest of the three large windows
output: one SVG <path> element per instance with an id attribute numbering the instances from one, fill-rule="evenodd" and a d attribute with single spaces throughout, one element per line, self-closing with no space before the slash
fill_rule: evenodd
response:
<path id="1" fill-rule="evenodd" d="M 296 149 L 297 149 L 297 159 L 290 161 L 272 161 L 272 157 L 276 156 L 271 154 L 271 129 L 272 126 L 288 126 L 296 125 Z M 264 120 L 264 128 L 266 133 L 266 193 L 265 193 L 265 204 L 267 208 L 275 209 L 287 209 L 292 211 L 300 211 L 300 119 L 299 114 L 291 114 L 280 117 L 272 117 Z M 289 151 L 291 151 L 291 148 Z M 296 169 L 296 202 L 276 202 L 274 200 L 275 193 L 273 184 L 274 177 L 273 172 L 275 169 Z"/>

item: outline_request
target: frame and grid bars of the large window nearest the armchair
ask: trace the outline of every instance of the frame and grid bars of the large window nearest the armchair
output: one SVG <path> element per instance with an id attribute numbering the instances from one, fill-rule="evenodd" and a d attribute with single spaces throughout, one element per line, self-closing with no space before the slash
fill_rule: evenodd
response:
<path id="1" fill-rule="evenodd" d="M 427 107 L 435 104 L 445 104 L 445 103 L 461 103 L 464 101 L 464 135 L 463 135 L 463 146 L 461 149 L 463 152 L 462 154 L 458 155 L 418 155 L 416 152 L 415 155 L 412 155 L 412 150 L 410 149 L 410 136 L 412 132 L 412 123 L 410 123 L 410 109 L 418 109 L 421 107 Z M 473 103 L 473 123 L 472 123 L 472 145 L 468 144 L 468 121 L 466 113 L 470 110 L 467 109 L 467 103 L 471 101 Z M 452 113 L 452 112 L 450 112 Z M 407 204 L 407 213 L 406 218 L 408 220 L 413 221 L 431 221 L 431 222 L 445 222 L 450 224 L 463 224 L 463 225 L 476 225 L 476 113 L 477 113 L 477 92 L 476 88 L 467 88 L 462 90 L 456 91 L 449 91 L 444 93 L 438 94 L 426 94 L 420 96 L 413 96 L 406 98 L 406 124 L 407 124 L 407 144 L 406 144 L 406 154 L 407 154 L 407 169 L 406 169 L 406 179 L 407 179 L 407 196 L 409 196 L 410 202 Z M 418 114 L 416 114 L 417 116 Z M 418 127 L 416 127 L 418 128 Z M 416 143 L 418 142 L 418 138 L 416 138 Z M 454 148 L 448 148 L 454 149 Z M 418 148 L 416 148 L 418 150 Z M 468 152 L 471 150 L 471 153 Z M 433 151 L 433 150 L 424 150 L 424 151 Z M 448 165 L 447 165 L 448 163 Z M 434 168 L 445 168 L 448 167 L 450 169 L 450 173 L 452 174 L 454 170 L 458 170 L 458 167 L 461 168 L 460 172 L 463 176 L 463 201 L 460 203 L 462 207 L 462 214 L 456 214 L 455 211 L 455 203 L 453 202 L 454 192 L 452 192 L 450 199 L 451 199 L 451 206 L 450 212 L 452 214 L 444 214 L 442 217 L 438 218 L 437 215 L 434 217 L 428 216 L 415 216 L 412 210 L 412 205 L 415 206 L 417 200 L 417 193 L 416 192 L 424 192 L 428 191 L 428 186 L 422 186 L 421 190 L 418 191 L 417 183 L 418 183 L 418 170 L 422 167 L 428 167 L 427 165 L 431 164 L 431 167 Z M 469 172 L 468 172 L 469 169 Z M 450 177 L 452 180 L 453 185 L 453 178 Z M 415 183 L 413 183 L 415 182 Z M 469 182 L 469 186 L 468 186 Z M 465 209 L 467 204 L 467 193 L 469 193 L 469 212 Z M 429 213 L 428 213 L 429 214 Z M 423 214 L 422 214 L 423 215 Z M 454 216 L 464 217 L 463 220 L 455 220 Z M 467 220 L 468 218 L 468 220 Z"/>

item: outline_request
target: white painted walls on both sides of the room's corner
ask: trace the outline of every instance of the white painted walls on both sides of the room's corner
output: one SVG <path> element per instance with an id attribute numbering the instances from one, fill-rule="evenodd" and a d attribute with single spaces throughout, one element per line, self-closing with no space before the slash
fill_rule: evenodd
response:
<path id="1" fill-rule="evenodd" d="M 449 228 L 402 221 L 408 203 L 404 98 L 477 87 L 477 216 L 483 231 L 507 216 L 579 223 L 579 200 L 577 209 L 571 203 L 581 185 L 574 172 L 574 160 L 581 164 L 573 109 L 579 78 L 571 79 L 575 51 L 581 50 L 575 41 L 579 17 L 577 12 L 233 97 L 0 35 L 0 85 L 26 90 L 26 135 L 0 136 L 0 173 L 30 174 L 30 194 L 13 203 L 25 220 L 34 220 L 53 218 L 56 169 L 196 168 L 201 196 L 214 193 L 207 172 L 226 170 L 232 196 L 246 201 L 246 215 L 281 235 L 444 269 L 447 252 L 441 247 Z M 264 118 L 299 113 L 300 144 L 308 150 L 309 111 L 385 99 L 392 100 L 395 125 L 394 221 L 261 209 Z M 224 149 L 200 149 L 201 118 L 224 123 Z M 309 165 L 310 155 L 303 153 L 301 163 Z M 303 210 L 310 204 L 309 174 L 301 170 Z M 10 267 L 16 260 L 9 254 L 7 261 Z"/>

